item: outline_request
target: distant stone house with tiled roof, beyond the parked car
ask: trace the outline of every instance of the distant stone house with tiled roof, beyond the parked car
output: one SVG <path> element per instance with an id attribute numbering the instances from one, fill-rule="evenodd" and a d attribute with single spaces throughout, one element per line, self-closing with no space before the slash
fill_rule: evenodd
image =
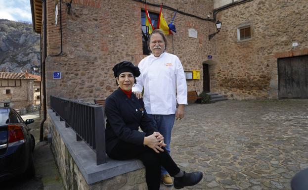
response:
<path id="1" fill-rule="evenodd" d="M 28 73 L 0 72 L 0 106 L 14 109 L 33 105 L 33 81 Z"/>

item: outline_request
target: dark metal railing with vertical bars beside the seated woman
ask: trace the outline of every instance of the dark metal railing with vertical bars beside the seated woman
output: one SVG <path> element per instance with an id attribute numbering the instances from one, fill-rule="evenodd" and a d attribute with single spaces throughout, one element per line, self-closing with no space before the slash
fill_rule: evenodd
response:
<path id="1" fill-rule="evenodd" d="M 103 106 L 51 95 L 50 107 L 75 131 L 76 141 L 83 140 L 96 152 L 96 165 L 106 163 Z"/>

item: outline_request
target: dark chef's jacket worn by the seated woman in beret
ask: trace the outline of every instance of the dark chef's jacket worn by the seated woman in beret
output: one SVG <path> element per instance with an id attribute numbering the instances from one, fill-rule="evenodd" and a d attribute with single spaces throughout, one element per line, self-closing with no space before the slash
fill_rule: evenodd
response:
<path id="1" fill-rule="evenodd" d="M 131 98 L 120 90 L 116 90 L 106 99 L 105 113 L 107 116 L 105 140 L 106 152 L 119 142 L 142 145 L 144 137 L 158 132 L 155 122 L 148 117 L 142 99 L 132 93 Z M 138 128 L 143 132 L 139 132 Z"/>

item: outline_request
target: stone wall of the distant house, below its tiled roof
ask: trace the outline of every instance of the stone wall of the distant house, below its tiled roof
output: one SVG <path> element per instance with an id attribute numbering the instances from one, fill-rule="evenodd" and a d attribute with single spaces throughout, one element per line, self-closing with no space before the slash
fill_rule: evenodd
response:
<path id="1" fill-rule="evenodd" d="M 11 94 L 5 94 L 5 90 L 10 90 Z M 33 104 L 33 81 L 21 80 L 21 86 L 18 87 L 0 87 L 0 102 L 10 102 L 14 109 L 29 107 Z"/>

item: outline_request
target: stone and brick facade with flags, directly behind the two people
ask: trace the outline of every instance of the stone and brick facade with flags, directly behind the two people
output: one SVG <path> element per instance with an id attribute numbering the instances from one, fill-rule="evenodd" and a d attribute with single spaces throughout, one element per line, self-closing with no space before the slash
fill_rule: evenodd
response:
<path id="1" fill-rule="evenodd" d="M 161 0 L 149 0 L 160 4 Z M 106 98 L 117 89 L 112 67 L 123 60 L 134 64 L 145 56 L 142 54 L 141 9 L 144 4 L 133 0 L 79 0 L 67 14 L 62 6 L 63 54 L 60 52 L 59 24 L 54 25 L 54 0 L 48 9 L 48 56 L 46 60 L 47 95 L 93 102 L 94 98 Z M 213 0 L 168 0 L 164 5 L 180 8 L 201 18 L 213 18 Z M 148 5 L 148 10 L 159 13 L 160 8 Z M 60 14 L 60 13 L 58 13 Z M 167 22 L 174 11 L 163 9 Z M 176 54 L 185 71 L 200 70 L 200 80 L 187 81 L 188 91 L 202 91 L 202 62 L 207 55 L 217 59 L 217 47 L 208 40 L 214 32 L 214 23 L 178 13 L 175 18 L 177 33 L 168 36 L 167 52 Z M 209 29 L 210 27 L 210 29 Z M 189 38 L 188 29 L 197 30 L 198 37 Z M 53 71 L 61 71 L 61 79 L 52 79 Z M 49 97 L 47 96 L 47 104 Z"/>

